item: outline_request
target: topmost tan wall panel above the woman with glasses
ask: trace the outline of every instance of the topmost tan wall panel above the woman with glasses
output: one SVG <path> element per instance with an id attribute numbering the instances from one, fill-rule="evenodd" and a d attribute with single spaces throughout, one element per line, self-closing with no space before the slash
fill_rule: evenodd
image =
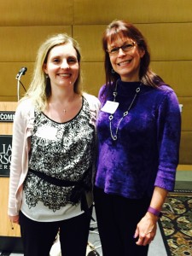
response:
<path id="1" fill-rule="evenodd" d="M 74 0 L 74 24 L 108 24 L 114 19 L 134 23 L 192 21 L 191 0 Z"/>

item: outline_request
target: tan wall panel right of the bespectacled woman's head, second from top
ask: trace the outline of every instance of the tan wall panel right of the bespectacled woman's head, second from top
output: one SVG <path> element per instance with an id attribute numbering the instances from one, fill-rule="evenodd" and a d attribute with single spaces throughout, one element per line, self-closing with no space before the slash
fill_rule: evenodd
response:
<path id="1" fill-rule="evenodd" d="M 192 22 L 137 24 L 137 27 L 148 40 L 153 61 L 192 60 Z"/>

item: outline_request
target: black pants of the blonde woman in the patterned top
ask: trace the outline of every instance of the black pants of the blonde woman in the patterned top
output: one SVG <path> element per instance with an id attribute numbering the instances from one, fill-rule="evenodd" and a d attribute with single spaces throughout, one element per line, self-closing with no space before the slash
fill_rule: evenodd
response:
<path id="1" fill-rule="evenodd" d="M 85 213 L 63 221 L 37 222 L 26 218 L 20 212 L 20 231 L 25 256 L 49 256 L 58 230 L 62 256 L 85 256 L 89 229 L 90 216 Z"/>

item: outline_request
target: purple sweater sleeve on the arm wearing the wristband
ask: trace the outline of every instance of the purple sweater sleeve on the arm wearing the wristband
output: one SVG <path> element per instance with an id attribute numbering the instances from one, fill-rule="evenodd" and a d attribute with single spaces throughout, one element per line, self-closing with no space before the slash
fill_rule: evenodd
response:
<path id="1" fill-rule="evenodd" d="M 160 102 L 157 127 L 159 168 L 154 185 L 172 191 L 175 184 L 181 136 L 181 113 L 173 90 L 166 91 Z"/>

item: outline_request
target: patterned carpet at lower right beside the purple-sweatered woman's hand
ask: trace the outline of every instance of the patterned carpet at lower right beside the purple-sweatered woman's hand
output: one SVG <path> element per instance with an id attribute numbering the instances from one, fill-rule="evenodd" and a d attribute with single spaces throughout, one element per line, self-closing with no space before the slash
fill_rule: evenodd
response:
<path id="1" fill-rule="evenodd" d="M 192 192 L 170 193 L 159 225 L 168 256 L 192 256 Z"/>

